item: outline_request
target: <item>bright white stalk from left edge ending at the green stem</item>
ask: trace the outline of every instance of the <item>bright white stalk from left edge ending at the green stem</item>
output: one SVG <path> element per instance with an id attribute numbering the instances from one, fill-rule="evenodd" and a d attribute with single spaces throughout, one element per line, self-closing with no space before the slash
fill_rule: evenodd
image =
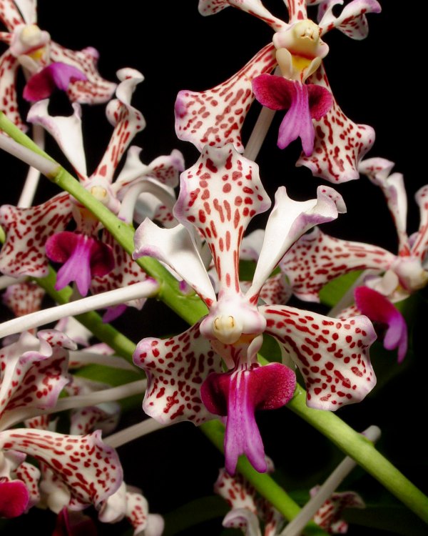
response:
<path id="1" fill-rule="evenodd" d="M 76 299 L 74 302 L 50 307 L 34 313 L 26 314 L 24 317 L 15 318 L 0 324 L 0 337 L 6 337 L 14 333 L 21 333 L 33 327 L 39 327 L 49 322 L 56 322 L 63 317 L 73 317 L 76 314 L 83 314 L 95 309 L 103 309 L 138 299 L 151 297 L 158 291 L 159 285 L 148 279 L 136 284 L 123 287 L 121 289 L 110 290 L 95 296 Z"/>

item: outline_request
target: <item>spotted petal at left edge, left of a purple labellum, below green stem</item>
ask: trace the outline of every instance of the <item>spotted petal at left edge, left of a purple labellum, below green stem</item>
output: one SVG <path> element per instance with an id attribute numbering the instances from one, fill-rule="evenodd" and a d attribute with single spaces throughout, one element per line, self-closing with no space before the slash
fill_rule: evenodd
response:
<path id="1" fill-rule="evenodd" d="M 46 240 L 63 231 L 70 219 L 70 196 L 65 192 L 37 207 L 20 209 L 3 205 L 0 224 L 6 232 L 6 242 L 0 252 L 0 271 L 12 277 L 46 277 L 49 272 Z"/>

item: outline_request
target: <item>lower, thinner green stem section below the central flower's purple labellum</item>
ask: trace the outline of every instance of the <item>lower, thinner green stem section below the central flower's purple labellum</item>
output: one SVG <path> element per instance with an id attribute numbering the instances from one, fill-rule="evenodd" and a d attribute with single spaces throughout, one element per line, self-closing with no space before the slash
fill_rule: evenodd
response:
<path id="1" fill-rule="evenodd" d="M 200 430 L 208 439 L 224 452 L 225 427 L 220 421 L 209 421 L 200 425 Z M 274 506 L 286 520 L 290 521 L 300 513 L 300 506 L 266 473 L 257 472 L 245 456 L 240 456 L 237 465 L 238 471 L 255 489 Z M 305 527 L 305 535 L 326 535 L 315 522 L 309 522 Z"/>

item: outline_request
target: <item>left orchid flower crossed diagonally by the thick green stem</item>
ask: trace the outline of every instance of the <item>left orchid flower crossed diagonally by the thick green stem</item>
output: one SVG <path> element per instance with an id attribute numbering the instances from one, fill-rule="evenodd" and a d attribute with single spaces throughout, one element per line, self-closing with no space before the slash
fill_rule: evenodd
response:
<path id="1" fill-rule="evenodd" d="M 74 114 L 63 117 L 49 115 L 48 101 L 39 101 L 31 108 L 28 119 L 52 134 L 83 186 L 131 224 L 133 207 L 141 194 L 158 197 L 162 204 L 156 214 L 165 204 L 172 207 L 175 197 L 171 189 L 178 180 L 178 171 L 183 169 L 183 157 L 180 152 L 173 151 L 169 156 L 158 157 L 145 165 L 138 156 L 140 149 L 131 147 L 121 173 L 113 182 L 121 157 L 146 124 L 141 112 L 131 106 L 131 96 L 143 76 L 133 69 L 121 69 L 118 78 L 121 84 L 116 91 L 117 98 L 106 110 L 114 131 L 106 153 L 90 177 L 83 151 L 81 108 L 77 103 L 73 104 Z M 166 219 L 168 212 L 164 212 Z M 72 217 L 76 231 L 66 231 Z M 51 259 L 63 264 L 58 270 L 56 289 L 75 281 L 83 296 L 90 288 L 99 293 L 147 277 L 104 229 L 98 239 L 101 232 L 98 219 L 66 193 L 58 194 L 38 207 L 20 209 L 4 205 L 0 209 L 0 220 L 6 232 L 6 242 L 0 252 L 0 269 L 4 274 L 44 277 L 48 272 L 48 259 Z M 138 299 L 129 304 L 141 308 L 144 301 Z"/>

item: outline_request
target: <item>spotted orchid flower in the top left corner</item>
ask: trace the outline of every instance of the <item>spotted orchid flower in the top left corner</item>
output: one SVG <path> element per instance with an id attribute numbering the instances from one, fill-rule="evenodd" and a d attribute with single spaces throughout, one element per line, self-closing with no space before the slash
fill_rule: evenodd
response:
<path id="1" fill-rule="evenodd" d="M 116 84 L 98 74 L 98 51 L 93 47 L 73 51 L 51 41 L 49 33 L 37 26 L 36 0 L 2 1 L 0 19 L 8 30 L 0 33 L 0 40 L 9 45 L 0 57 L 0 99 L 4 112 L 21 129 L 26 130 L 26 125 L 16 95 L 19 66 L 26 76 L 24 99 L 29 101 L 46 99 L 55 88 L 82 104 L 111 99 Z"/>

